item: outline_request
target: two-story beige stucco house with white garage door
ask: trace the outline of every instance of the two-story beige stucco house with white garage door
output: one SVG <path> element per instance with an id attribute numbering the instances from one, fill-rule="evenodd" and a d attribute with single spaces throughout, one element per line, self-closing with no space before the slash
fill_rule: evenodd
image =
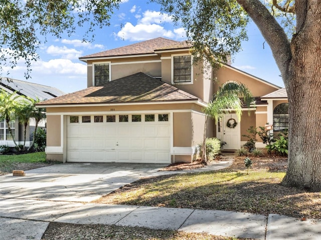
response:
<path id="1" fill-rule="evenodd" d="M 267 94 L 280 87 L 228 64 L 220 69 L 206 62 L 193 65 L 191 47 L 158 37 L 80 57 L 87 63 L 88 88 L 38 104 L 47 108 L 47 158 L 190 162 L 203 140 L 202 107 L 227 81 L 245 83 L 256 104 L 244 109 L 241 122 L 233 112 L 217 124 L 211 120 L 208 137 L 235 150 L 246 142 L 242 134 L 251 125 L 272 122 L 275 99 Z M 230 118 L 237 122 L 234 128 L 226 125 Z"/>

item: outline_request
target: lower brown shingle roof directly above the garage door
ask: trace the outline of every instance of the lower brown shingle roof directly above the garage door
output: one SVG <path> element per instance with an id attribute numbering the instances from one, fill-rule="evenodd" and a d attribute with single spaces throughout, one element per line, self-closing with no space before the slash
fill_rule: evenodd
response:
<path id="1" fill-rule="evenodd" d="M 199 100 L 198 97 L 159 78 L 138 72 L 100 86 L 69 93 L 37 105 L 70 105 L 102 103 L 138 103 Z"/>

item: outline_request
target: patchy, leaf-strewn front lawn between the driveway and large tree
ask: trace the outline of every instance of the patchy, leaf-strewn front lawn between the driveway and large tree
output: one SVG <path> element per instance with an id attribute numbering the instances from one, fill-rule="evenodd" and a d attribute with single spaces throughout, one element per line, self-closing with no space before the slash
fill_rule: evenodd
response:
<path id="1" fill-rule="evenodd" d="M 230 168 L 220 171 L 140 179 L 96 202 L 321 218 L 320 192 L 281 186 L 285 168 L 280 161 L 254 161 L 250 174 L 244 158 L 236 158 Z"/>

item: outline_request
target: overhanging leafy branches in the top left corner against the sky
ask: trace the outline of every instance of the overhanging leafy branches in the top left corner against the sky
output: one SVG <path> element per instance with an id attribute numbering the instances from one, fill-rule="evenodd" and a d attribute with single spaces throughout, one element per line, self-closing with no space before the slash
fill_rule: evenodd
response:
<path id="1" fill-rule="evenodd" d="M 94 38 L 94 29 L 109 25 L 121 0 L 0 0 L 0 71 L 22 59 L 30 76 L 31 62 L 47 37 L 71 36 L 84 26 L 83 41 Z M 92 34 L 91 34 L 92 33 Z"/>

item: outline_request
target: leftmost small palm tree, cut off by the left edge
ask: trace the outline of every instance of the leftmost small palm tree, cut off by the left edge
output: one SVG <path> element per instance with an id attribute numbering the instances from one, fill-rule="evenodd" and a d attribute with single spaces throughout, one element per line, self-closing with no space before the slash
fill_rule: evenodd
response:
<path id="1" fill-rule="evenodd" d="M 5 91 L 4 89 L 1 89 L 0 91 L 0 119 L 5 119 L 6 124 L 9 129 L 9 133 L 16 145 L 16 147 L 20 149 L 19 145 L 17 144 L 15 140 L 15 136 L 13 134 L 13 131 L 10 127 L 10 120 L 14 119 L 16 116 L 16 109 L 21 104 L 21 96 L 16 94 L 17 92 L 9 93 Z"/>

